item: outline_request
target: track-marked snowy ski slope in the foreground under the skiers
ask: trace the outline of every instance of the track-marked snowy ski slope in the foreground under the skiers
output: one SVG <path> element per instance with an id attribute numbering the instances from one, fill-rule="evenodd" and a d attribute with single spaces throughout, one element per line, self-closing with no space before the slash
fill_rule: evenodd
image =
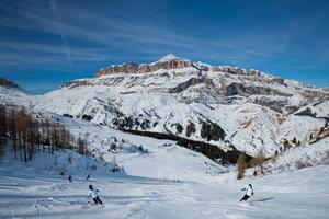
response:
<path id="1" fill-rule="evenodd" d="M 97 175 L 72 184 L 59 175 L 1 171 L 0 218 L 327 218 L 329 166 L 218 185 Z M 224 180 L 227 180 L 226 183 Z M 256 195 L 239 204 L 252 183 Z M 88 185 L 101 189 L 104 206 L 92 205 Z"/>

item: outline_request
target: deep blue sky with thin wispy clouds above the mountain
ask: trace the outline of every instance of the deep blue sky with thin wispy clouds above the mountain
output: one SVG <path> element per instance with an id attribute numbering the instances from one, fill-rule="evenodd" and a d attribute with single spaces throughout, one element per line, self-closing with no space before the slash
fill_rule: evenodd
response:
<path id="1" fill-rule="evenodd" d="M 329 1 L 1 0 L 0 77 L 44 93 L 172 53 L 329 87 Z"/>

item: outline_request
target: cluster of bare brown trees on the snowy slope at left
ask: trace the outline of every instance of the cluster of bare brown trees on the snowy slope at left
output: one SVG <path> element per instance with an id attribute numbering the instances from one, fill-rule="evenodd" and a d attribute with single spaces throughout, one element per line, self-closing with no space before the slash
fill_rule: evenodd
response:
<path id="1" fill-rule="evenodd" d="M 11 146 L 14 158 L 27 162 L 36 151 L 54 153 L 63 148 L 87 153 L 83 139 L 73 136 L 53 117 L 32 114 L 24 106 L 0 104 L 0 155 Z"/>

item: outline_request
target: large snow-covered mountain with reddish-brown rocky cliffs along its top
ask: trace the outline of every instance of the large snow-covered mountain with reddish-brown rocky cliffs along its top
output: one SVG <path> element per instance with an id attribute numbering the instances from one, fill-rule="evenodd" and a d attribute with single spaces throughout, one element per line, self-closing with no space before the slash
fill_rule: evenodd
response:
<path id="1" fill-rule="evenodd" d="M 111 127 L 175 135 L 268 157 L 284 141 L 308 143 L 329 117 L 329 92 L 258 70 L 168 55 L 100 69 L 35 99 L 38 110 Z M 300 115 L 303 108 L 320 113 Z M 318 110 L 316 110 L 318 111 Z"/>

